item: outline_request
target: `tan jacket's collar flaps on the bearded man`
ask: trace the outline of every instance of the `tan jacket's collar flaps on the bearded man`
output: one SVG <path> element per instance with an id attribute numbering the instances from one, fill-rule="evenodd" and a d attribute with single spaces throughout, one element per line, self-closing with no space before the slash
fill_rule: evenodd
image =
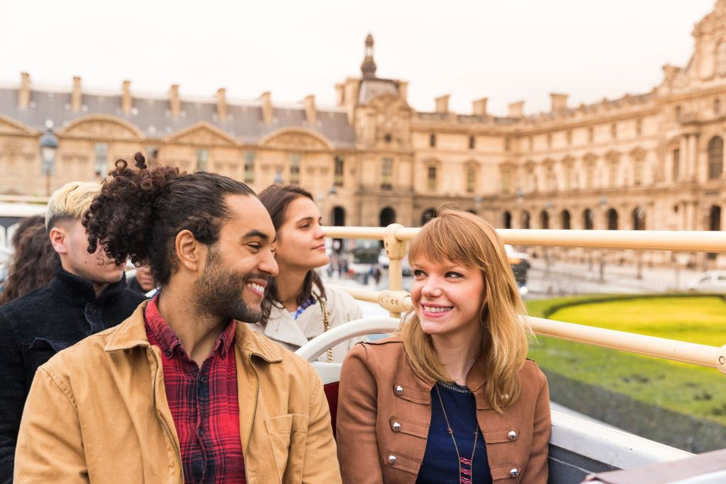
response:
<path id="1" fill-rule="evenodd" d="M 106 343 L 105 351 L 129 350 L 137 346 L 148 347 L 150 345 L 144 325 L 144 311 L 146 311 L 148 303 L 149 301 L 141 303 L 136 311 L 129 316 L 129 319 L 126 319 L 115 328 L 113 335 L 110 336 L 108 343 Z M 282 361 L 279 350 L 273 348 L 266 337 L 254 332 L 241 321 L 237 321 L 234 344 L 240 350 L 258 356 L 268 363 Z"/>

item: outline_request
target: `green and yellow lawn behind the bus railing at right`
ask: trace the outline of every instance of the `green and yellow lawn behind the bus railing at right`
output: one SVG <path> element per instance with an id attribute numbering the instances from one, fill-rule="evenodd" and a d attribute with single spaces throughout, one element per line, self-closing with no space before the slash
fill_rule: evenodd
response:
<path id="1" fill-rule="evenodd" d="M 584 298 L 528 301 L 531 316 Z M 640 298 L 560 308 L 550 319 L 705 345 L 726 344 L 726 302 L 717 297 Z M 726 375 L 617 350 L 537 337 L 530 358 L 565 377 L 624 393 L 645 403 L 726 424 Z"/>

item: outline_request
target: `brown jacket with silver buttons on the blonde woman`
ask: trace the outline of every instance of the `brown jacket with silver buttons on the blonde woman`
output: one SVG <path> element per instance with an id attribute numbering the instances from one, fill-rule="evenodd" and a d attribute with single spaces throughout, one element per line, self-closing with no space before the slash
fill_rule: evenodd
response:
<path id="1" fill-rule="evenodd" d="M 550 395 L 534 361 L 519 372 L 522 392 L 504 413 L 484 395 L 475 364 L 466 384 L 497 483 L 547 483 Z M 415 483 L 431 422 L 433 382 L 415 374 L 400 337 L 356 345 L 343 362 L 338 398 L 338 460 L 343 483 Z M 474 477 L 476 483 L 476 476 Z"/>

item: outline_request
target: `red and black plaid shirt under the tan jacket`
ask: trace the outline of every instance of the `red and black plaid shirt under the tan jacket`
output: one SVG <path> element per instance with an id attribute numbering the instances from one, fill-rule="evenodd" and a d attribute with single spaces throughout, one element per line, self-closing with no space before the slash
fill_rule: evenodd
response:
<path id="1" fill-rule="evenodd" d="M 159 314 L 158 298 L 146 307 L 149 343 L 161 350 L 166 399 L 179 435 L 186 483 L 245 483 L 240 402 L 232 320 L 201 368 Z"/>

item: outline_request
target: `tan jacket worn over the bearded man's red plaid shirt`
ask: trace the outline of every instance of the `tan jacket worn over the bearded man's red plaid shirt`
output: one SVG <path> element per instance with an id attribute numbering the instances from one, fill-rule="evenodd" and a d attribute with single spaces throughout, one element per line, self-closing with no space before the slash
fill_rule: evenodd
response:
<path id="1" fill-rule="evenodd" d="M 15 454 L 16 483 L 181 483 L 179 439 L 142 303 L 36 372 Z M 339 483 L 322 384 L 312 367 L 246 324 L 234 340 L 248 483 Z"/>

